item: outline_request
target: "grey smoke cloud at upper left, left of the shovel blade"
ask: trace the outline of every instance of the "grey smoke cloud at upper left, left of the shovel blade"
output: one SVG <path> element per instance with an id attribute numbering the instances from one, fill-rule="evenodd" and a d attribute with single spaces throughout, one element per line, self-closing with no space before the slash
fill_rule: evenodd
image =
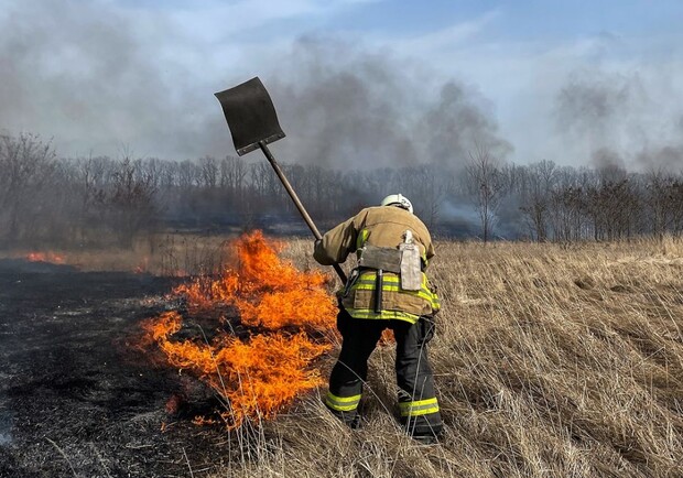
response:
<path id="1" fill-rule="evenodd" d="M 205 122 L 187 69 L 158 40 L 172 24 L 111 2 L 3 2 L 0 129 L 54 138 L 66 155 L 183 157 Z M 162 61 L 163 58 L 163 61 Z M 213 98 L 212 98 L 213 99 Z"/>

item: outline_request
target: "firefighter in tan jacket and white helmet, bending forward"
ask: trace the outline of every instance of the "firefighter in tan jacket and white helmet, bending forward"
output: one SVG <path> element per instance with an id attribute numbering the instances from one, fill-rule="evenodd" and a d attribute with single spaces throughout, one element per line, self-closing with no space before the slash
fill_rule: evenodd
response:
<path id="1" fill-rule="evenodd" d="M 314 259 L 323 265 L 343 263 L 356 252 L 355 268 L 338 292 L 339 358 L 329 377 L 325 405 L 347 425 L 359 424 L 358 404 L 368 374 L 368 359 L 382 334 L 397 341 L 398 409 L 406 433 L 434 443 L 442 431 L 427 343 L 434 335 L 438 297 L 424 273 L 434 247 L 411 202 L 391 194 L 367 207 L 315 242 Z"/>

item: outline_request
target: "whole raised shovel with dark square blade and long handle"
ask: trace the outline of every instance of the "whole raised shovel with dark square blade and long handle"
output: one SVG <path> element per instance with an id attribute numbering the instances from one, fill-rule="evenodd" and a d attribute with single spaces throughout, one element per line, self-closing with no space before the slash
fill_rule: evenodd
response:
<path id="1" fill-rule="evenodd" d="M 219 91 L 216 94 L 216 98 L 220 101 L 223 112 L 228 121 L 237 154 L 241 156 L 256 149 L 263 151 L 268 162 L 275 170 L 275 174 L 306 221 L 311 232 L 313 232 L 316 239 L 322 239 L 321 231 L 315 227 L 306 208 L 299 199 L 275 157 L 268 149 L 267 144 L 284 138 L 284 132 L 282 132 L 282 128 L 280 128 L 278 122 L 278 115 L 270 95 L 259 77 L 251 78 L 249 82 L 225 91 Z M 339 279 L 342 279 L 342 282 L 346 282 L 346 274 L 342 267 L 333 264 L 333 268 L 337 275 L 339 275 Z"/>

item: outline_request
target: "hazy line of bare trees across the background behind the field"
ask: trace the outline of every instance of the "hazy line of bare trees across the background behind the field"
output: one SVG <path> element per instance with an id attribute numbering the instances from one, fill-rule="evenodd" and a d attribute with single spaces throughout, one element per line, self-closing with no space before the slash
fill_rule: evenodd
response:
<path id="1" fill-rule="evenodd" d="M 457 164 L 282 167 L 323 230 L 401 192 L 440 236 L 578 241 L 683 232 L 681 171 L 519 165 L 479 145 Z M 2 247 L 130 247 L 161 230 L 250 227 L 307 232 L 264 160 L 62 159 L 39 137 L 0 135 Z"/>

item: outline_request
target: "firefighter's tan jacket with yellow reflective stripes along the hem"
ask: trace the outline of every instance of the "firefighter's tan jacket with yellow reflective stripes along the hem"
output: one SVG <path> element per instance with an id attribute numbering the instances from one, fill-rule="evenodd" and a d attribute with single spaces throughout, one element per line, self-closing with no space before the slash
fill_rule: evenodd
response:
<path id="1" fill-rule="evenodd" d="M 395 206 L 362 209 L 356 216 L 330 229 L 318 241 L 314 259 L 323 265 L 343 263 L 350 252 L 366 245 L 398 249 L 410 230 L 422 258 L 422 285 L 416 291 L 401 287 L 400 274 L 384 272 L 381 311 L 376 312 L 377 270 L 356 268 L 346 286 L 338 292 L 342 306 L 356 318 L 401 319 L 415 323 L 421 315 L 433 315 L 440 308 L 438 297 L 430 286 L 424 269 L 434 256 L 426 226 L 413 214 Z"/>

